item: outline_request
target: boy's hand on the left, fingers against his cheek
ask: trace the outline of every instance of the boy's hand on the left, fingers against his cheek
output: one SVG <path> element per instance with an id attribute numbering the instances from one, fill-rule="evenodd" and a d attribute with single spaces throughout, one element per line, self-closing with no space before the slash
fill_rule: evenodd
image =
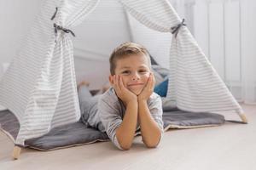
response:
<path id="1" fill-rule="evenodd" d="M 131 101 L 137 102 L 137 95 L 131 93 L 131 91 L 125 88 L 122 77 L 120 77 L 119 75 L 113 75 L 113 88 L 119 99 L 121 99 L 125 103 L 125 105 L 127 105 Z"/>

